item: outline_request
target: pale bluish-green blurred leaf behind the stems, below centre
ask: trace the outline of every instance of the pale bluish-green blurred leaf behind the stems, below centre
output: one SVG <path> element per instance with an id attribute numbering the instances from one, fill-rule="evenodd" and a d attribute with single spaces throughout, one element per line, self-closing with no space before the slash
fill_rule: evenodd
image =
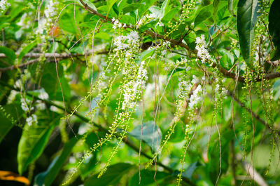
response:
<path id="1" fill-rule="evenodd" d="M 153 150 L 156 150 L 160 146 L 162 140 L 162 132 L 160 128 L 155 125 L 154 121 L 148 121 L 143 124 L 142 135 L 141 135 L 141 124 L 135 126 L 135 128 L 129 133 L 138 140 L 141 139 L 146 142 Z"/>

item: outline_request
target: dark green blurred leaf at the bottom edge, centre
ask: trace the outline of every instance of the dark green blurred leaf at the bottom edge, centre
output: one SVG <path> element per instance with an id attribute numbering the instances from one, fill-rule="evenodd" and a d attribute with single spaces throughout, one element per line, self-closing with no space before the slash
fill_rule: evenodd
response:
<path id="1" fill-rule="evenodd" d="M 170 179 L 170 174 L 165 173 L 165 172 L 160 172 L 157 171 L 150 171 L 150 170 L 141 170 L 141 182 L 139 184 L 139 172 L 135 173 L 132 178 L 130 179 L 130 186 L 138 186 L 138 185 L 155 185 L 155 180 L 154 180 L 154 175 L 155 175 L 155 180 L 157 180 L 158 184 L 165 180 L 165 178 Z M 162 185 L 162 184 L 160 184 Z"/>

